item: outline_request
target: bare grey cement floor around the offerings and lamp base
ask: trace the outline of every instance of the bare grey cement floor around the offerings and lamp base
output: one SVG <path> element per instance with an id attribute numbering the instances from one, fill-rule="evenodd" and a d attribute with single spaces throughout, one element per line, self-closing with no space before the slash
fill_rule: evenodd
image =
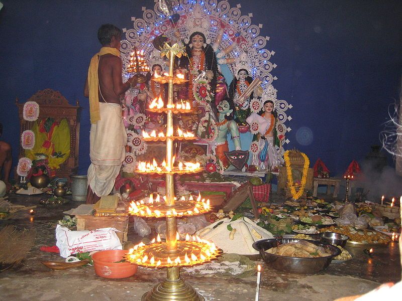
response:
<path id="1" fill-rule="evenodd" d="M 31 206 L 39 204 L 46 196 L 10 196 L 12 203 Z M 57 253 L 40 251 L 43 245 L 55 245 L 55 226 L 63 217 L 63 211 L 75 208 L 78 202 L 56 207 L 38 206 L 37 214 L 20 211 L 11 219 L 0 220 L 0 228 L 6 224 L 19 228 L 35 228 L 35 246 L 27 259 L 18 267 L 0 272 L 0 300 L 141 300 L 141 296 L 154 285 L 162 282 L 165 270 L 138 268 L 137 273 L 124 279 L 106 279 L 97 276 L 92 266 L 64 271 L 50 270 L 41 264 L 44 260 L 64 261 Z M 135 239 L 129 229 L 129 240 Z M 348 248 L 354 258 L 344 263 L 331 263 L 316 275 L 296 275 L 276 271 L 262 261 L 263 271 L 260 300 L 333 300 L 338 297 L 368 292 L 379 283 L 400 280 L 400 262 L 397 243 L 374 249 L 372 257 L 363 249 Z M 256 276 L 223 279 L 193 277 L 181 272 L 181 277 L 192 285 L 207 301 L 254 300 Z"/>

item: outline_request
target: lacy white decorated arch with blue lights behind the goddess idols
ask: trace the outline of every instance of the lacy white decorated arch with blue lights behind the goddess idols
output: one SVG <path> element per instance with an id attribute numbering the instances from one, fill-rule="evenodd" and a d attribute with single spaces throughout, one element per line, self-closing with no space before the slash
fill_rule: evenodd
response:
<path id="1" fill-rule="evenodd" d="M 121 58 L 124 78 L 130 76 L 128 67 L 133 49 L 143 51 L 148 66 L 159 64 L 165 68 L 166 62 L 154 47 L 155 39 L 164 36 L 171 40 L 178 32 L 179 39 L 186 43 L 191 33 L 201 32 L 206 36 L 208 44 L 214 44 L 219 68 L 228 84 L 240 69 L 248 70 L 253 79 L 261 79 L 262 96 L 250 102 L 251 111 L 260 110 L 264 101 L 271 100 L 277 113 L 276 131 L 285 137 L 286 132 L 291 130 L 286 121 L 291 120 L 287 111 L 292 105 L 278 99 L 273 85 L 277 78 L 271 72 L 276 64 L 270 59 L 275 52 L 266 48 L 269 37 L 260 35 L 262 24 L 252 24 L 252 13 L 244 15 L 241 5 L 231 7 L 228 1 L 219 0 L 158 0 L 153 9 L 142 7 L 142 11 L 142 19 L 132 18 L 133 28 L 123 29 L 125 39 L 121 43 Z M 219 35 L 221 30 L 222 36 Z M 230 47 L 234 43 L 235 47 Z M 225 53 L 227 49 L 231 51 Z M 250 126 L 250 131 L 257 132 L 253 126 Z M 282 146 L 285 143 L 289 143 L 286 137 L 281 140 L 280 146 L 276 146 L 282 162 L 285 150 Z M 259 152 L 256 143 L 242 148 L 250 149 L 252 154 Z"/>

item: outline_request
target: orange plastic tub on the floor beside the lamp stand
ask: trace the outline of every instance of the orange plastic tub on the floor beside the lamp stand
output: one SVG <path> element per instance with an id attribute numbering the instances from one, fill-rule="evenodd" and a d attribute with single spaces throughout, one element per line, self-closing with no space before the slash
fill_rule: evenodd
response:
<path id="1" fill-rule="evenodd" d="M 104 278 L 126 278 L 135 274 L 137 264 L 118 262 L 124 258 L 127 250 L 98 251 L 91 257 L 96 275 Z"/>

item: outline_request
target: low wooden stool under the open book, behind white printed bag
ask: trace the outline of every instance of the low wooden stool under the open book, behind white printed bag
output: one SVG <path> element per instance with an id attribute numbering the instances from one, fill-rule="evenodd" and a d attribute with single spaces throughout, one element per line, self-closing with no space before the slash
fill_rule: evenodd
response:
<path id="1" fill-rule="evenodd" d="M 76 215 L 77 217 L 77 230 L 95 230 L 101 228 L 115 228 L 116 234 L 120 242 L 127 241 L 127 234 L 129 229 L 128 216 L 105 216 L 97 217 L 92 215 Z"/>

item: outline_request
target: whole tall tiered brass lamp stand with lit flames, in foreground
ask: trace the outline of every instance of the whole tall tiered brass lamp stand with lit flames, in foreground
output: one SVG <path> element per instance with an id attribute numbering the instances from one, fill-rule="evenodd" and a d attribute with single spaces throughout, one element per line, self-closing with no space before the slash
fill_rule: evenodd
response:
<path id="1" fill-rule="evenodd" d="M 201 200 L 200 197 L 192 199 L 192 197 L 176 200 L 174 196 L 174 174 L 190 174 L 203 171 L 198 165 L 191 166 L 173 159 L 173 140 L 182 140 L 179 135 L 173 135 L 173 113 L 183 113 L 185 109 L 174 109 L 173 105 L 173 84 L 183 83 L 186 80 L 173 76 L 174 57 L 180 57 L 184 54 L 182 48 L 177 44 L 170 47 L 165 44 L 161 55 L 166 55 L 169 59 L 169 75 L 153 80 L 168 82 L 168 101 L 165 108 L 159 109 L 167 114 L 166 135 L 164 137 L 149 137 L 147 141 L 166 141 L 166 159 L 165 165 L 156 167 L 155 164 L 150 166 L 144 164 L 140 173 L 158 173 L 165 174 L 166 177 L 166 194 L 165 197 L 157 195 L 154 198 L 152 194 L 147 202 L 132 202 L 130 214 L 141 217 L 165 217 L 166 218 L 166 242 L 162 242 L 158 236 L 157 240 L 152 241 L 150 245 L 140 243 L 131 249 L 127 255 L 127 260 L 148 268 L 167 268 L 166 279 L 155 285 L 151 291 L 142 296 L 142 301 L 151 300 L 182 300 L 196 301 L 205 300 L 199 295 L 194 288 L 185 283 L 180 278 L 180 267 L 192 266 L 195 264 L 203 264 L 216 259 L 221 254 L 213 243 L 200 239 L 196 236 L 186 237 L 186 241 L 180 241 L 177 233 L 176 218 L 181 216 L 190 216 L 196 214 L 204 214 L 211 210 L 209 200 Z M 150 110 L 152 111 L 152 109 Z M 191 109 L 187 109 L 191 112 Z M 187 137 L 195 139 L 195 137 Z M 175 165 L 175 166 L 174 166 Z M 164 199 L 164 200 L 163 200 Z"/>

